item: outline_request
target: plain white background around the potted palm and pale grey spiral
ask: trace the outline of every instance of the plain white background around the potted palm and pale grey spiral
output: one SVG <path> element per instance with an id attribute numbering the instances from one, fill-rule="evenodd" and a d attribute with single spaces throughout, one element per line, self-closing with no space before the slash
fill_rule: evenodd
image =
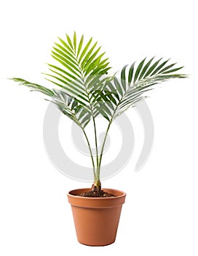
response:
<path id="1" fill-rule="evenodd" d="M 198 255 L 195 4 L 1 1 L 0 255 Z M 163 84 L 148 99 L 155 141 L 138 173 L 133 170 L 143 132 L 138 118 L 132 122 L 134 157 L 103 182 L 103 187 L 127 192 L 116 243 L 98 248 L 76 241 L 66 192 L 91 184 L 68 179 L 48 159 L 42 140 L 47 103 L 6 80 L 17 76 L 46 85 L 41 72 L 53 42 L 74 29 L 103 45 L 114 71 L 156 55 L 173 58 L 191 75 Z M 135 116 L 133 112 L 128 115 Z"/>

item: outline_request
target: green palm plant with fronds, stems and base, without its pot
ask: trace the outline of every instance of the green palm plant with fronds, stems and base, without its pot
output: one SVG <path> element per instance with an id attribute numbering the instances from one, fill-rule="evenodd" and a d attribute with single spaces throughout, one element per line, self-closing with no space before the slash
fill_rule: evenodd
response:
<path id="1" fill-rule="evenodd" d="M 182 67 L 175 67 L 170 60 L 143 59 L 140 63 L 132 63 L 122 68 L 120 77 L 108 75 L 108 58 L 104 58 L 97 42 L 92 38 L 84 43 L 84 36 L 79 41 L 66 34 L 52 49 L 52 57 L 57 65 L 48 64 L 50 73 L 45 74 L 47 80 L 55 84 L 55 89 L 30 83 L 21 78 L 12 78 L 15 82 L 27 86 L 31 91 L 40 91 L 47 95 L 60 111 L 71 118 L 84 133 L 92 159 L 94 183 L 93 191 L 100 191 L 100 168 L 106 137 L 114 119 L 130 107 L 134 107 L 145 98 L 158 83 L 171 78 L 186 78 L 177 73 Z M 108 121 L 106 135 L 101 151 L 98 152 L 98 137 L 95 118 L 102 115 Z M 92 120 L 95 133 L 96 155 L 92 154 L 86 126 Z"/>

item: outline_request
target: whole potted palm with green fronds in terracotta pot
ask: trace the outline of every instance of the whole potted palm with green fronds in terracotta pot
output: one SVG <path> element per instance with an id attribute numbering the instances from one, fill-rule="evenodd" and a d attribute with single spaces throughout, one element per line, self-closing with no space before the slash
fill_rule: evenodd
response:
<path id="1" fill-rule="evenodd" d="M 109 75 L 111 67 L 104 55 L 97 47 L 97 42 L 92 43 L 92 38 L 84 43 L 84 36 L 77 40 L 74 32 L 72 38 L 68 34 L 66 39 L 58 38 L 52 49 L 52 57 L 57 64 L 48 64 L 50 72 L 45 75 L 55 88 L 12 78 L 31 91 L 39 91 L 47 96 L 47 100 L 82 129 L 90 150 L 93 184 L 90 189 L 68 192 L 68 201 L 74 215 L 77 238 L 80 243 L 90 246 L 114 243 L 126 196 L 116 189 L 101 189 L 103 149 L 111 124 L 117 116 L 144 99 L 145 92 L 152 90 L 158 83 L 171 78 L 186 78 L 186 75 L 178 73 L 182 67 L 175 67 L 175 63 L 170 63 L 170 60 L 154 58 L 124 66 L 120 76 Z M 100 152 L 95 122 L 99 115 L 108 121 Z M 86 131 L 90 121 L 95 136 L 95 156 Z"/>

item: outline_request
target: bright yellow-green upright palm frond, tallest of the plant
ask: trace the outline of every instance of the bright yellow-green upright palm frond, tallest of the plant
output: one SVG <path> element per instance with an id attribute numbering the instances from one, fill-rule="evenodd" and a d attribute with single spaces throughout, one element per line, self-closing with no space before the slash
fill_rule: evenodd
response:
<path id="1" fill-rule="evenodd" d="M 68 34 L 66 40 L 59 38 L 52 50 L 52 57 L 59 65 L 48 64 L 52 73 L 45 74 L 48 80 L 84 105 L 90 105 L 90 90 L 95 86 L 95 78 L 100 78 L 110 69 L 108 58 L 103 59 L 105 53 L 100 53 L 97 44 L 92 43 L 92 38 L 84 43 L 83 35 L 78 42 L 75 32 L 73 39 Z"/>

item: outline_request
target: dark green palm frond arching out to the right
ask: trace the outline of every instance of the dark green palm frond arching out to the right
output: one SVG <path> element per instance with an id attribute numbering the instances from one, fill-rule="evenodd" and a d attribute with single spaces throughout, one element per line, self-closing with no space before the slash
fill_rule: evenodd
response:
<path id="1" fill-rule="evenodd" d="M 151 58 L 148 61 L 143 59 L 139 64 L 134 62 L 128 70 L 127 66 L 124 66 L 120 79 L 114 77 L 106 83 L 104 89 L 114 94 L 100 103 L 100 113 L 110 121 L 144 99 L 144 93 L 154 89 L 158 83 L 171 78 L 186 78 L 186 75 L 177 73 L 183 67 L 173 68 L 176 63 L 167 64 L 168 61 L 154 61 L 154 58 Z"/>

